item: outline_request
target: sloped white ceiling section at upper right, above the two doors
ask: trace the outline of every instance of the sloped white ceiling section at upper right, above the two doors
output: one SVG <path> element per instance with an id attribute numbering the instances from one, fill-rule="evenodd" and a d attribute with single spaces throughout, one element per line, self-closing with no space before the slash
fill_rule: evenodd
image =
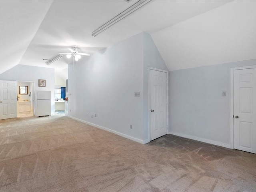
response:
<path id="1" fill-rule="evenodd" d="M 233 1 L 152 38 L 169 70 L 256 58 L 256 1 Z"/>

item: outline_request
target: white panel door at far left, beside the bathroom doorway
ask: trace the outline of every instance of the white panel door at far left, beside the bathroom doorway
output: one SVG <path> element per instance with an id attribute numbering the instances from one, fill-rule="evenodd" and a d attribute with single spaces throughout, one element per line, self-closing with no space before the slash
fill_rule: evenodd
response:
<path id="1" fill-rule="evenodd" d="M 0 119 L 17 117 L 17 82 L 0 81 Z"/>

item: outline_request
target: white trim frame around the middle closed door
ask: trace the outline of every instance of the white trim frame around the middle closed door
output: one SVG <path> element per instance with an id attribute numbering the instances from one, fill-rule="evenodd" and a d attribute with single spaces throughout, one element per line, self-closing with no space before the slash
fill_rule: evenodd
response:
<path id="1" fill-rule="evenodd" d="M 150 142 L 150 70 L 165 72 L 167 74 L 166 94 L 167 94 L 167 110 L 166 110 L 166 134 L 169 133 L 169 71 L 154 67 L 148 67 L 148 142 Z"/>

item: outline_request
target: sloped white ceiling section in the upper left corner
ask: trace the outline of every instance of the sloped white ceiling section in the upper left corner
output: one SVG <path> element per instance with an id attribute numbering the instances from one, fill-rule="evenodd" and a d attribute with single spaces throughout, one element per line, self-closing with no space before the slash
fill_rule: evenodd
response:
<path id="1" fill-rule="evenodd" d="M 0 73 L 20 63 L 52 1 L 0 1 Z"/>

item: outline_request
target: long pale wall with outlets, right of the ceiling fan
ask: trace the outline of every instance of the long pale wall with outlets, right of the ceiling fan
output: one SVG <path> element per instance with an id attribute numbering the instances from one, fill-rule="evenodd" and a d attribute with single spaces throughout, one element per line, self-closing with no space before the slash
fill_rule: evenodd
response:
<path id="1" fill-rule="evenodd" d="M 143 142 L 143 33 L 70 64 L 68 89 L 69 116 Z"/>

